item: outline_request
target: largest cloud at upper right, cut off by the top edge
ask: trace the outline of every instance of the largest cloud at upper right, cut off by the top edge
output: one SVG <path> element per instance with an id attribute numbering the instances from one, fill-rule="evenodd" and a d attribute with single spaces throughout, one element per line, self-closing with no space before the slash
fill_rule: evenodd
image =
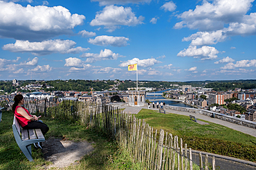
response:
<path id="1" fill-rule="evenodd" d="M 188 27 L 203 31 L 221 30 L 226 23 L 241 23 L 244 15 L 252 7 L 254 0 L 214 0 L 203 1 L 201 6 L 188 10 L 177 17 L 183 21 L 174 28 Z"/>

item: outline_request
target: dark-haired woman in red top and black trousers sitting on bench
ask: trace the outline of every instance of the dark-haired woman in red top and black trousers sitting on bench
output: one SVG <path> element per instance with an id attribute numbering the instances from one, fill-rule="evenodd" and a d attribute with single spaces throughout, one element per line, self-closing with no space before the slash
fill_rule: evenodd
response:
<path id="1" fill-rule="evenodd" d="M 24 105 L 24 98 L 21 94 L 17 94 L 15 96 L 15 103 L 12 105 L 12 112 L 15 114 L 21 127 L 23 129 L 41 129 L 42 134 L 45 135 L 49 127 L 41 120 L 38 120 L 37 116 L 29 114 L 28 110 L 21 105 Z M 40 145 L 42 144 L 37 143 L 35 147 L 42 148 Z"/>

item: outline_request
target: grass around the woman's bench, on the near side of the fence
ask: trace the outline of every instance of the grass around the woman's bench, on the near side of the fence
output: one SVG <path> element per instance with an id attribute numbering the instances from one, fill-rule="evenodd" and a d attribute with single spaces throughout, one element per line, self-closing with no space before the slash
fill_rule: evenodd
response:
<path id="1" fill-rule="evenodd" d="M 3 111 L 2 120 L 0 123 L 1 170 L 44 169 L 44 166 L 51 164 L 51 162 L 44 160 L 42 151 L 35 149 L 33 146 L 32 156 L 34 162 L 29 162 L 15 142 L 12 133 L 12 112 Z M 91 142 L 91 145 L 95 148 L 89 155 L 84 156 L 79 164 L 64 169 L 118 169 L 119 167 L 123 167 L 123 169 L 136 169 L 136 166 L 138 166 L 132 162 L 128 153 L 125 153 L 122 148 L 116 145 L 116 142 L 109 139 L 107 134 L 98 129 L 86 129 L 86 126 L 68 121 L 44 118 L 42 120 L 50 127 L 45 136 L 46 139 L 49 137 L 62 138 L 65 136 L 68 140 L 86 140 Z"/>

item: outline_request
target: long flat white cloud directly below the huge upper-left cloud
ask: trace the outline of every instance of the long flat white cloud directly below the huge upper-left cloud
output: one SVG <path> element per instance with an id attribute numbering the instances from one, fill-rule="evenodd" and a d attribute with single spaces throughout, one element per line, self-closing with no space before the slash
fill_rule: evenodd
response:
<path id="1" fill-rule="evenodd" d="M 9 43 L 3 45 L 3 50 L 9 50 L 10 52 L 31 52 L 31 54 L 37 56 L 43 56 L 60 52 L 61 54 L 77 54 L 89 50 L 89 48 L 75 47 L 75 41 L 71 40 L 48 40 L 42 42 L 19 41 L 15 44 Z"/>

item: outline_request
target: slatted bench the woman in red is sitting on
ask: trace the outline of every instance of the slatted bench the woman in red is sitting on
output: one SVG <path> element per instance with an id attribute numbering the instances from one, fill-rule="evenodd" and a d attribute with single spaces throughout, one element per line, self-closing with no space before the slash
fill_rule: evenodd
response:
<path id="1" fill-rule="evenodd" d="M 31 144 L 43 142 L 45 140 L 41 129 L 22 129 L 19 125 L 17 118 L 13 119 L 12 131 L 15 136 L 17 145 L 24 153 L 26 158 L 31 162 L 33 161 L 31 153 Z"/>

